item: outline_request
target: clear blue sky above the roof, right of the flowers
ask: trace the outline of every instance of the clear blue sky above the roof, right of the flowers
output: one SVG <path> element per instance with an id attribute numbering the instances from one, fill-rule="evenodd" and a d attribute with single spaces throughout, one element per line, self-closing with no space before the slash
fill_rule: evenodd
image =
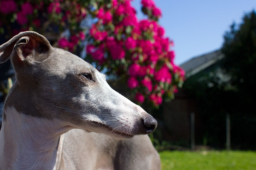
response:
<path id="1" fill-rule="evenodd" d="M 141 0 L 132 5 L 139 19 Z M 159 23 L 165 28 L 166 36 L 174 40 L 175 62 L 183 62 L 219 49 L 223 35 L 233 23 L 241 23 L 245 13 L 256 9 L 256 0 L 155 0 L 162 10 Z"/>

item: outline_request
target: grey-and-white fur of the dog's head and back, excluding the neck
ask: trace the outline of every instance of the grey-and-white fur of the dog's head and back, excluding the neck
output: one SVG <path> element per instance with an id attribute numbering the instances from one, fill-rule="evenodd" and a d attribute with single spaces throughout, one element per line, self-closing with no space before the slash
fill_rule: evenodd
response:
<path id="1" fill-rule="evenodd" d="M 73 129 L 58 140 L 61 159 L 56 168 L 160 169 L 149 137 L 134 136 L 151 133 L 155 119 L 114 91 L 91 64 L 51 47 L 44 36 L 31 31 L 0 46 L 0 63 L 9 58 L 16 82 L 4 110 L 13 107 L 26 116 L 49 122 L 57 119 Z M 8 112 L 4 112 L 3 121 L 8 121 Z M 145 129 L 145 119 L 153 122 L 153 129 Z M 58 149 L 59 143 L 63 148 Z"/>

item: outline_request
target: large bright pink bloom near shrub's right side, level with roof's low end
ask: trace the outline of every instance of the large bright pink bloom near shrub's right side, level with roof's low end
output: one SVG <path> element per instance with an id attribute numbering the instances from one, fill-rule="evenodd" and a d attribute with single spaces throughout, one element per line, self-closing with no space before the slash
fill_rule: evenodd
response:
<path id="1" fill-rule="evenodd" d="M 172 74 L 170 73 L 170 69 L 164 65 L 160 70 L 156 71 L 154 74 L 154 78 L 159 82 L 167 82 L 171 84 L 172 82 Z"/>

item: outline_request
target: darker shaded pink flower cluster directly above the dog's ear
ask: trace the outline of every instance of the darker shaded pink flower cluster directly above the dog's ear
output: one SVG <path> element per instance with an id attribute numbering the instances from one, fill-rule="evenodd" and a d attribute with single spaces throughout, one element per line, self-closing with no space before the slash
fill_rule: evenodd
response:
<path id="1" fill-rule="evenodd" d="M 16 29 L 12 30 L 13 36 L 21 31 L 31 30 L 43 34 L 54 29 L 55 32 L 59 32 L 69 28 L 71 32 L 69 40 L 59 36 L 57 43 L 59 47 L 69 51 L 73 51 L 74 46 L 85 39 L 79 22 L 86 16 L 86 7 L 76 0 L 65 2 L 64 0 L 0 0 L 0 13 L 6 17 L 6 20 L 14 21 Z M 0 26 L 2 24 L 0 20 Z M 8 24 L 5 22 L 5 25 Z"/>

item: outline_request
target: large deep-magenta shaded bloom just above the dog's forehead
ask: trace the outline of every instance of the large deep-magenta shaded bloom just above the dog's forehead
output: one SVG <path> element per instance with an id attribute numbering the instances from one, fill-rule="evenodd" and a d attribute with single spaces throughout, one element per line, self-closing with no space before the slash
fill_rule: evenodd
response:
<path id="1" fill-rule="evenodd" d="M 125 51 L 124 51 L 122 45 L 120 44 L 120 42 L 117 42 L 112 38 L 107 39 L 107 48 L 110 51 L 112 59 L 120 60 L 125 57 Z"/>

